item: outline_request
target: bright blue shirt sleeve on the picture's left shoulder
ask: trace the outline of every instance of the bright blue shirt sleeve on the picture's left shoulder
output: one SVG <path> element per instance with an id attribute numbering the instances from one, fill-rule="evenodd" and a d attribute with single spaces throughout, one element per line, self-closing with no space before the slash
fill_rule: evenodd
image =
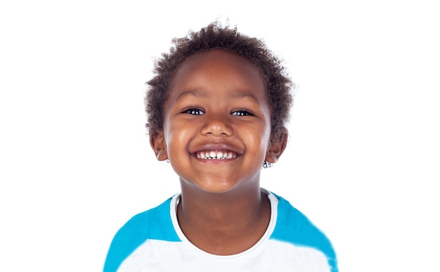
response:
<path id="1" fill-rule="evenodd" d="M 104 271 L 116 271 L 119 264 L 148 239 L 179 241 L 170 216 L 171 200 L 136 214 L 119 228 L 108 250 Z"/>

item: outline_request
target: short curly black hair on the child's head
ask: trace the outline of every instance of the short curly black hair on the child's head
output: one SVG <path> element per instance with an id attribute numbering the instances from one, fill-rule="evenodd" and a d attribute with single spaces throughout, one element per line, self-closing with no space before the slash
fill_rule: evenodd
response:
<path id="1" fill-rule="evenodd" d="M 163 128 L 163 105 L 169 96 L 169 84 L 176 68 L 189 56 L 214 48 L 244 56 L 259 67 L 272 112 L 272 134 L 277 139 L 283 136 L 285 123 L 290 117 L 293 103 L 291 90 L 295 84 L 288 77 L 280 58 L 266 47 L 264 41 L 240 34 L 237 27 L 222 27 L 220 22 L 215 21 L 199 32 L 190 31 L 186 37 L 173 39 L 172 43 L 174 46 L 169 53 L 163 53 L 162 58 L 155 61 L 155 77 L 147 82 L 149 88 L 145 96 L 145 110 L 150 136 L 154 137 Z"/>

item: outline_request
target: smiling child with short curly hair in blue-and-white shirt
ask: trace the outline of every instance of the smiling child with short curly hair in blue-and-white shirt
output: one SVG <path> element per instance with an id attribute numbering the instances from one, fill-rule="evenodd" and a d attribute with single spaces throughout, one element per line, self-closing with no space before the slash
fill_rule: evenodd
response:
<path id="1" fill-rule="evenodd" d="M 264 43 L 214 22 L 174 40 L 145 98 L 181 193 L 115 235 L 104 271 L 337 271 L 328 239 L 260 188 L 287 143 L 292 82 Z"/>

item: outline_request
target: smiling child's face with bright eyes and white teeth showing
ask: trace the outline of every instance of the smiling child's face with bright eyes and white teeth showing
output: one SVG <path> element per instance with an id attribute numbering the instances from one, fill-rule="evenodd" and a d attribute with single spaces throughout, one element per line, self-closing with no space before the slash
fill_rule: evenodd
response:
<path id="1" fill-rule="evenodd" d="M 222 193 L 259 186 L 271 154 L 271 109 L 258 68 L 220 49 L 197 53 L 175 71 L 164 130 L 151 140 L 183 185 Z M 212 158 L 216 157 L 216 158 Z"/>

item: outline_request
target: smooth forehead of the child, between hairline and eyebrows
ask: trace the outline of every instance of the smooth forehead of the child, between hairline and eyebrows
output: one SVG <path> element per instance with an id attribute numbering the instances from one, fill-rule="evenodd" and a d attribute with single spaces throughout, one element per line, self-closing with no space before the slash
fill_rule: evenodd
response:
<path id="1" fill-rule="evenodd" d="M 261 75 L 259 67 L 244 56 L 222 49 L 212 49 L 186 58 L 174 72 L 171 89 L 180 89 L 186 85 L 187 88 L 198 88 L 198 86 L 190 86 L 193 84 L 205 86 L 216 84 L 219 89 L 224 90 L 259 89 L 265 92 L 264 79 Z"/>

